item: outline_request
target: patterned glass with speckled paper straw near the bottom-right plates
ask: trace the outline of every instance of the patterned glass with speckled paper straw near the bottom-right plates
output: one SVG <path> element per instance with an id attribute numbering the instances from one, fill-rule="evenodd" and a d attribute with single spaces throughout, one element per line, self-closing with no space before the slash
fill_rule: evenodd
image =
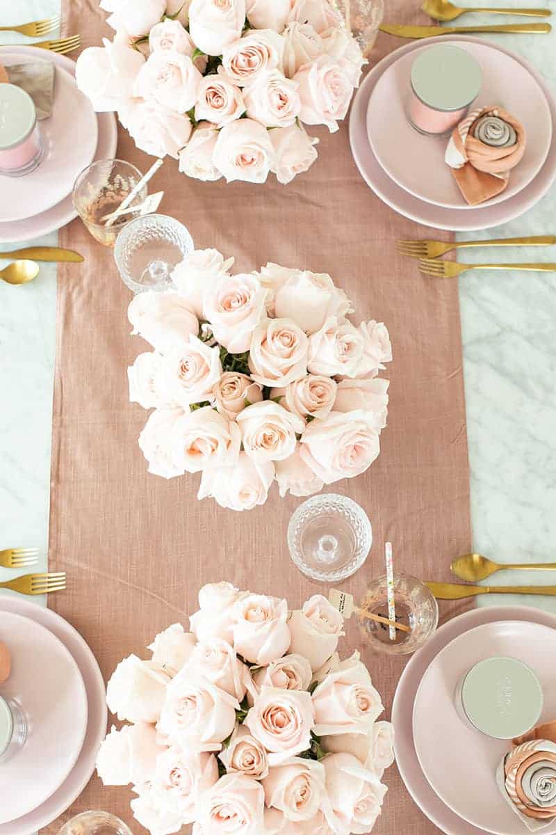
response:
<path id="1" fill-rule="evenodd" d="M 423 646 L 438 625 L 438 603 L 421 580 L 405 574 L 394 575 L 393 599 L 396 623 L 408 630 L 395 630 L 390 638 L 387 624 L 364 617 L 361 610 L 371 615 L 388 618 L 387 578 L 379 577 L 368 586 L 358 605 L 357 622 L 363 640 L 373 650 L 388 655 L 409 655 Z"/>

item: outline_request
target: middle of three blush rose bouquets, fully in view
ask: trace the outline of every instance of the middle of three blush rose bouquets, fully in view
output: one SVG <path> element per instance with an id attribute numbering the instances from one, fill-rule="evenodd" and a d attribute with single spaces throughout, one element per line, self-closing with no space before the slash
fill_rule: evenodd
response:
<path id="1" fill-rule="evenodd" d="M 198 498 L 223 508 L 316 493 L 363 473 L 386 425 L 392 359 L 382 323 L 348 321 L 330 276 L 268 264 L 232 275 L 233 258 L 190 253 L 175 289 L 128 308 L 153 352 L 128 369 L 129 397 L 155 411 L 139 436 L 149 472 L 201 472 Z"/>

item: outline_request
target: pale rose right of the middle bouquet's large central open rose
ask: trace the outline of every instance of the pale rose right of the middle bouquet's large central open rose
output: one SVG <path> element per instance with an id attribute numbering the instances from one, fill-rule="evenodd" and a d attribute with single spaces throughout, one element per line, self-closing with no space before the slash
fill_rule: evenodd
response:
<path id="1" fill-rule="evenodd" d="M 307 367 L 312 374 L 355 377 L 362 357 L 363 337 L 350 321 L 338 316 L 329 316 L 309 337 Z"/>

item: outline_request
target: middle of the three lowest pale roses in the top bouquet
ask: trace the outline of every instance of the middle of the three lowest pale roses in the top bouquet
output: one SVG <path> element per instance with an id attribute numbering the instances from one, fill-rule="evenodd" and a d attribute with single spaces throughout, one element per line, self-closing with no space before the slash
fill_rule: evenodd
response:
<path id="1" fill-rule="evenodd" d="M 228 183 L 245 180 L 264 183 L 274 163 L 267 129 L 253 119 L 237 119 L 218 133 L 213 162 Z"/>

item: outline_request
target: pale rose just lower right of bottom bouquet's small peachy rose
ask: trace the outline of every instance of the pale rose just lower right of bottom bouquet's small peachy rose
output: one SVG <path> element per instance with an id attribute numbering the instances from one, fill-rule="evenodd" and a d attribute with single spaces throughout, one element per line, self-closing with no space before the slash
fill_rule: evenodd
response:
<path id="1" fill-rule="evenodd" d="M 292 757 L 270 769 L 263 788 L 267 806 L 279 809 L 290 821 L 309 821 L 326 794 L 323 764 Z"/>

